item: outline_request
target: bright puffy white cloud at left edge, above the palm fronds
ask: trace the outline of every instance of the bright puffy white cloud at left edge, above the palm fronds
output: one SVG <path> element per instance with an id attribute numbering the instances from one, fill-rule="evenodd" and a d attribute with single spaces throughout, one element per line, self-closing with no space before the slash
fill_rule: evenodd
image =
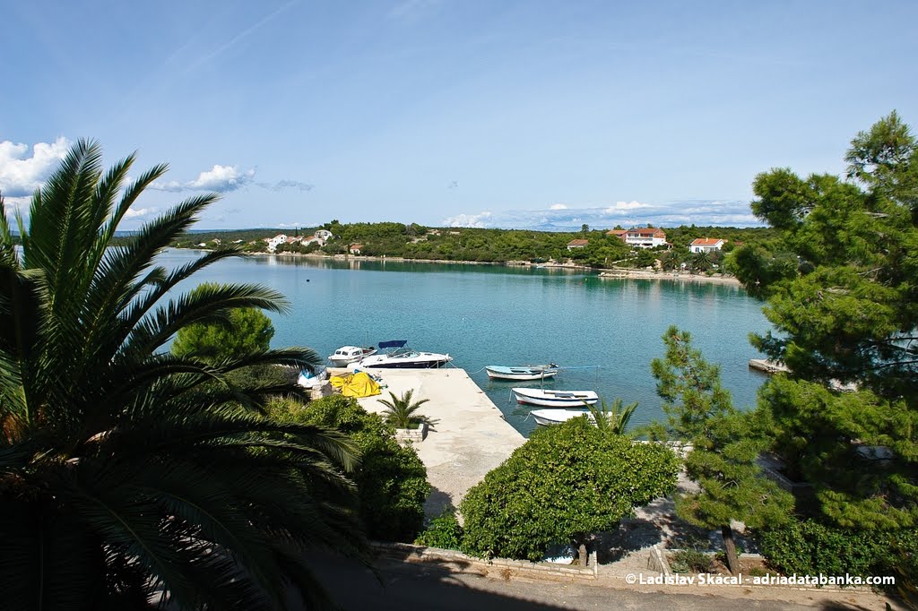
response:
<path id="1" fill-rule="evenodd" d="M 63 136 L 50 144 L 38 142 L 28 156 L 28 144 L 0 142 L 0 193 L 23 197 L 35 192 L 67 154 L 70 140 Z"/>

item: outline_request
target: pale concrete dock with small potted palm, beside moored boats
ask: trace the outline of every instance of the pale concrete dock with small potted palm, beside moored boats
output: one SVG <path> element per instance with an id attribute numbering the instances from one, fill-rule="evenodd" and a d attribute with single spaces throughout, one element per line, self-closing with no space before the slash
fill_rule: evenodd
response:
<path id="1" fill-rule="evenodd" d="M 440 514 L 447 505 L 458 506 L 469 488 L 526 441 L 465 370 L 375 370 L 374 374 L 387 387 L 382 394 L 358 399 L 368 412 L 385 411 L 378 400 L 390 400 L 389 392 L 400 397 L 414 389 L 414 399 L 430 399 L 419 411 L 437 422 L 423 441 L 414 444 L 433 486 L 428 516 Z"/>

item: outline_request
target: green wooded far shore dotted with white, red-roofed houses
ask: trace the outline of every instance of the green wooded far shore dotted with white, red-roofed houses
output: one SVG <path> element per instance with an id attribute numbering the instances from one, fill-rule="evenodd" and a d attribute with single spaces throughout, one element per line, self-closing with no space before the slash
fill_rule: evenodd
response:
<path id="1" fill-rule="evenodd" d="M 247 254 L 362 256 L 409 261 L 464 261 L 576 265 L 598 270 L 730 273 L 731 252 L 772 239 L 770 228 L 695 227 L 537 231 L 498 228 L 427 228 L 412 223 L 337 220 L 292 232 L 238 229 L 196 232 L 177 248 L 235 246 Z M 292 234 L 292 235 L 291 235 Z"/>

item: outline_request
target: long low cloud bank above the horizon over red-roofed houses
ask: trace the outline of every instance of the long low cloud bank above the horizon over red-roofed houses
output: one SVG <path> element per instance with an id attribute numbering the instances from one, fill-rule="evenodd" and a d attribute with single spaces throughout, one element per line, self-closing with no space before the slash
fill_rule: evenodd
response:
<path id="1" fill-rule="evenodd" d="M 648 204 L 616 202 L 610 206 L 570 208 L 564 205 L 541 210 L 507 210 L 460 214 L 443 219 L 446 227 L 532 229 L 538 231 L 579 231 L 583 224 L 603 229 L 621 225 L 630 228 L 653 223 L 656 226 L 719 225 L 757 227 L 763 225 L 753 216 L 748 202 L 724 200 L 687 200 Z"/>

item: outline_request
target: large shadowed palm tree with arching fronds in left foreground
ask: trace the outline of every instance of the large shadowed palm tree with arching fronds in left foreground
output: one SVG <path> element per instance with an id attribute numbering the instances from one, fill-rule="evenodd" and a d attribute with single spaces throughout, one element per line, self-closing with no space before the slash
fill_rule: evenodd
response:
<path id="1" fill-rule="evenodd" d="M 312 350 L 207 363 L 163 350 L 177 331 L 236 307 L 285 310 L 263 286 L 223 284 L 166 302 L 178 283 L 237 254 L 174 270 L 156 255 L 217 195 L 192 197 L 111 248 L 158 165 L 125 184 L 74 145 L 17 214 L 0 199 L 0 583 L 16 609 L 278 608 L 327 602 L 303 550 L 359 554 L 355 452 L 322 428 L 263 416 L 291 384 L 231 383 L 262 364 L 314 367 Z M 165 303 L 164 303 L 165 302 Z"/>

